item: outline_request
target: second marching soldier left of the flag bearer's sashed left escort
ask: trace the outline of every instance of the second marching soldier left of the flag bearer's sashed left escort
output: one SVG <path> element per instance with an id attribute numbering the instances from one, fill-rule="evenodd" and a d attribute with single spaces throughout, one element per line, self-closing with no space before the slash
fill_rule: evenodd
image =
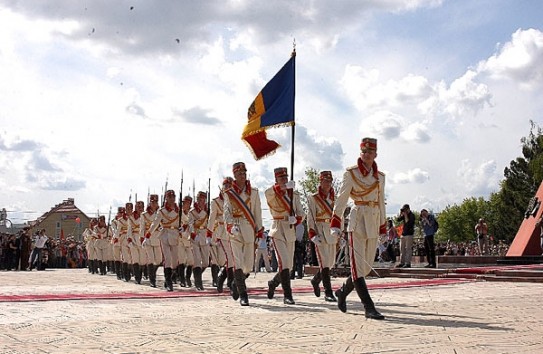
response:
<path id="1" fill-rule="evenodd" d="M 189 227 L 191 230 L 192 252 L 194 254 L 194 286 L 197 290 L 204 290 L 202 273 L 209 265 L 209 244 L 207 238 L 207 193 L 198 192 L 196 202 L 189 213 Z"/>

